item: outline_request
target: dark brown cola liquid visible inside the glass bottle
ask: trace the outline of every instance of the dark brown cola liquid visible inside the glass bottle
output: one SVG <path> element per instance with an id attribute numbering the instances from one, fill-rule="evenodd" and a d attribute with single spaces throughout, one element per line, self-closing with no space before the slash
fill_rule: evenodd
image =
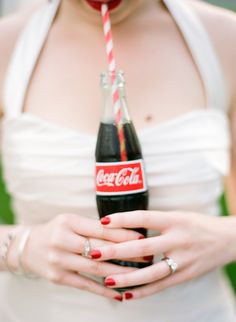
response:
<path id="1" fill-rule="evenodd" d="M 132 122 L 125 123 L 123 128 L 127 160 L 131 161 L 142 159 L 141 147 Z M 96 162 L 119 161 L 121 161 L 121 157 L 117 127 L 114 124 L 101 123 L 96 147 Z M 148 191 L 115 196 L 97 195 L 96 200 L 100 218 L 117 212 L 148 209 Z M 135 230 L 146 237 L 146 229 L 139 228 Z M 122 266 L 136 268 L 143 268 L 150 265 L 149 263 L 135 263 L 126 261 L 112 262 Z"/>

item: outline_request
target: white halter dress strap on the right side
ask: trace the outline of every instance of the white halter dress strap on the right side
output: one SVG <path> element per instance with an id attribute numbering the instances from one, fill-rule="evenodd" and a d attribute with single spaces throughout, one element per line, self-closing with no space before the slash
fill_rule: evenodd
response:
<path id="1" fill-rule="evenodd" d="M 229 93 L 226 80 L 207 31 L 187 0 L 163 0 L 189 46 L 205 86 L 208 108 L 226 111 Z"/>

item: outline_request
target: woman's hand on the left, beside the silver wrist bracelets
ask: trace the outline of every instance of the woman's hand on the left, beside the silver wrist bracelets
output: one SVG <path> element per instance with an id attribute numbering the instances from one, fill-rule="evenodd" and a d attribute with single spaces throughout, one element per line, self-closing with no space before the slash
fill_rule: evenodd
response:
<path id="1" fill-rule="evenodd" d="M 81 274 L 105 277 L 128 273 L 134 268 L 86 258 L 81 255 L 84 243 L 86 238 L 89 238 L 92 249 L 96 249 L 111 243 L 139 239 L 140 236 L 139 233 L 132 230 L 108 229 L 103 227 L 99 220 L 75 214 L 62 214 L 46 224 L 33 227 L 22 256 L 22 262 L 26 271 L 53 283 L 121 300 L 120 293 L 117 291 Z M 13 267 L 14 262 L 16 265 L 16 258 L 14 259 L 16 253 L 14 248 L 16 247 L 17 239 L 9 253 L 9 264 L 12 264 Z"/>

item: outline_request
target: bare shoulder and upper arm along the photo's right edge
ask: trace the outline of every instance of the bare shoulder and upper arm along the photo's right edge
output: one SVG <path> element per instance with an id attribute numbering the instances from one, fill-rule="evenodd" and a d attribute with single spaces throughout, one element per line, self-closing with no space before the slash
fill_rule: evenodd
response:
<path id="1" fill-rule="evenodd" d="M 226 197 L 230 214 L 236 214 L 236 15 L 234 12 L 191 0 L 217 52 L 230 97 L 232 130 L 231 170 L 226 178 Z M 224 26 L 224 28 L 222 28 Z"/>

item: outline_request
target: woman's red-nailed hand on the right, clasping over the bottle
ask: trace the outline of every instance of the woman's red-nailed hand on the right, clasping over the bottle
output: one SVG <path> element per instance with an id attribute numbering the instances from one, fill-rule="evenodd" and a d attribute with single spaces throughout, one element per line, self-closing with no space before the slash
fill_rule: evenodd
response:
<path id="1" fill-rule="evenodd" d="M 233 233 L 229 218 L 177 211 L 133 211 L 105 218 L 102 223 L 107 228 L 144 227 L 160 234 L 101 247 L 91 253 L 92 257 L 94 255 L 97 259 L 100 256 L 99 260 L 103 261 L 133 257 L 149 257 L 150 260 L 150 256 L 158 255 L 169 257 L 178 264 L 174 274 L 171 274 L 165 261 L 159 261 L 134 272 L 107 276 L 106 285 L 114 288 L 146 284 L 126 292 L 126 299 L 138 299 L 160 292 L 233 260 L 231 248 L 235 220 Z"/>

